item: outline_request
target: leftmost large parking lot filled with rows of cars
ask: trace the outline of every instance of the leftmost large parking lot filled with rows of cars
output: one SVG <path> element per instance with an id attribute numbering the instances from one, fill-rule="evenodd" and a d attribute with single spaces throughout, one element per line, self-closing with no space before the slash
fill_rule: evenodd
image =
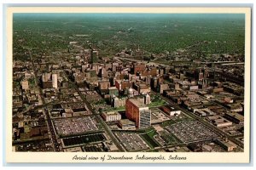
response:
<path id="1" fill-rule="evenodd" d="M 97 122 L 93 116 L 55 119 L 53 122 L 58 135 L 70 135 L 98 130 L 96 126 Z"/>

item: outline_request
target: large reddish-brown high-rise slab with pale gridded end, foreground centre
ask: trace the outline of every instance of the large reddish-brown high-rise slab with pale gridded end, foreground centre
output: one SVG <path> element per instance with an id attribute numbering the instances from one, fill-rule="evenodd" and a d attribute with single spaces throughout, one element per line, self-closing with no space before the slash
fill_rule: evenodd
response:
<path id="1" fill-rule="evenodd" d="M 140 99 L 127 99 L 125 116 L 136 122 L 138 128 L 146 128 L 151 124 L 151 111 Z"/>

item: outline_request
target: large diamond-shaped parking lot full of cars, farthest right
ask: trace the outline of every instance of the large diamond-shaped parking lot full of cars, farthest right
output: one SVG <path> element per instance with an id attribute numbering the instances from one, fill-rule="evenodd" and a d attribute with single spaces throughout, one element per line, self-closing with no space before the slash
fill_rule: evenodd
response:
<path id="1" fill-rule="evenodd" d="M 213 139 L 218 135 L 200 122 L 182 121 L 166 127 L 166 130 L 174 134 L 183 143 Z"/>

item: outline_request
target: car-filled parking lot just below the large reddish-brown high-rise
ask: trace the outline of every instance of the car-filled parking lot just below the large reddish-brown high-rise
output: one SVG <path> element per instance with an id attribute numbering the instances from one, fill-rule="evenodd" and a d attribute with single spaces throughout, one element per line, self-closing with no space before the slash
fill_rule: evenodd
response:
<path id="1" fill-rule="evenodd" d="M 127 151 L 149 149 L 148 144 L 146 144 L 137 133 L 114 133 L 114 135 Z"/>

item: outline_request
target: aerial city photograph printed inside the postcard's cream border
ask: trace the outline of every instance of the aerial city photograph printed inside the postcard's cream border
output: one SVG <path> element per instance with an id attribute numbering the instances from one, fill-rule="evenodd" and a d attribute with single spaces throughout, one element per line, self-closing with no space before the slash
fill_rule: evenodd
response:
<path id="1" fill-rule="evenodd" d="M 245 14 L 13 14 L 15 152 L 243 152 Z"/>

